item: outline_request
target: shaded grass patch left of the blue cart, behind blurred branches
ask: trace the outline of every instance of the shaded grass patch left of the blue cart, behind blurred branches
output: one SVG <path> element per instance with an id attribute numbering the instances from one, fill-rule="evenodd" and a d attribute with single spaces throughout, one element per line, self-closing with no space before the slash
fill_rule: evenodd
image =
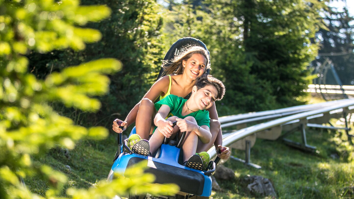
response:
<path id="1" fill-rule="evenodd" d="M 116 135 L 110 135 L 102 141 L 81 141 L 68 155 L 65 155 L 64 149 L 57 148 L 34 159 L 66 174 L 68 183 L 64 185 L 65 189 L 89 188 L 97 181 L 107 178 L 117 149 L 116 139 Z M 69 165 L 71 171 L 65 165 Z M 49 187 L 40 176 L 27 177 L 24 181 L 32 192 L 42 196 Z M 65 192 L 62 191 L 61 195 L 65 195 Z"/>

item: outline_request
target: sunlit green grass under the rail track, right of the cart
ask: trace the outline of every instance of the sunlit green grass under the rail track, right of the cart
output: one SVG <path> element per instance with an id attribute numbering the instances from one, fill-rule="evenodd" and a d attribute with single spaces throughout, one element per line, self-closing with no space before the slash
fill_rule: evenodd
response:
<path id="1" fill-rule="evenodd" d="M 288 138 L 299 142 L 300 132 Z M 223 191 L 215 193 L 213 198 L 259 198 L 248 191 L 244 180 L 253 175 L 268 178 L 279 198 L 354 198 L 354 149 L 346 140 L 345 133 L 309 129 L 308 144 L 317 150 L 306 153 L 281 141 L 257 139 L 251 149 L 251 161 L 262 169 L 227 161 L 225 166 L 235 171 L 236 178 L 231 182 L 220 181 Z M 332 159 L 331 154 L 339 158 Z M 232 155 L 245 157 L 240 150 L 233 150 Z M 348 192 L 348 187 L 352 187 L 352 192 Z"/>

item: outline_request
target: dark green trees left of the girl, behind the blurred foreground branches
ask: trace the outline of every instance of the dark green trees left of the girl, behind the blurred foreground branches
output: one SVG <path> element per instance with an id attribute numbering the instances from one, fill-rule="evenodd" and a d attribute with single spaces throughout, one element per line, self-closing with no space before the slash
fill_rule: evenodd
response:
<path id="1" fill-rule="evenodd" d="M 65 49 L 46 54 L 31 52 L 29 70 L 38 78 L 53 71 L 59 71 L 72 64 L 80 64 L 94 59 L 114 57 L 122 62 L 122 70 L 110 76 L 110 89 L 104 97 L 97 113 L 82 112 L 77 109 L 57 110 L 70 116 L 76 115 L 75 123 L 85 126 L 110 126 L 115 118 L 125 119 L 126 114 L 142 98 L 156 80 L 160 70 L 162 9 L 154 0 L 83 0 L 82 4 L 106 4 L 112 13 L 100 23 L 87 23 L 85 27 L 97 29 L 102 39 L 88 44 L 85 50 Z M 72 118 L 75 117 L 72 115 Z"/>

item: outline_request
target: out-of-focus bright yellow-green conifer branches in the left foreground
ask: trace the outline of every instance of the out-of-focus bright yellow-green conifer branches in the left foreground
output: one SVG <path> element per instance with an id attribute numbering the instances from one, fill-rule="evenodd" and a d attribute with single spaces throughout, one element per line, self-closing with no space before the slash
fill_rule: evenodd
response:
<path id="1" fill-rule="evenodd" d="M 107 137 L 104 127 L 82 127 L 58 114 L 52 103 L 61 103 L 87 112 L 97 112 L 101 103 L 96 96 L 109 91 L 108 74 L 121 70 L 120 61 L 98 59 L 53 70 L 36 78 L 28 73 L 28 52 L 46 53 L 72 48 L 82 50 L 85 43 L 97 42 L 101 33 L 80 27 L 98 22 L 110 15 L 108 6 L 80 6 L 78 0 L 0 1 L 0 196 L 1 198 L 40 198 L 23 186 L 20 178 L 36 175 L 50 188 L 46 198 L 58 195 L 67 177 L 51 167 L 33 161 L 31 156 L 46 153 L 54 147 L 73 149 L 83 138 Z M 74 51 L 72 51 L 74 52 Z M 153 177 L 143 174 L 142 166 L 131 170 L 132 182 L 118 179 L 101 181 L 97 187 L 68 189 L 69 198 L 113 198 L 115 194 L 135 191 L 169 193 L 176 186 L 148 183 Z M 130 182 L 130 183 L 127 183 Z M 120 186 L 117 186 L 120 184 Z M 124 184 L 124 186 L 122 186 Z M 140 189 L 141 188 L 141 189 Z"/>

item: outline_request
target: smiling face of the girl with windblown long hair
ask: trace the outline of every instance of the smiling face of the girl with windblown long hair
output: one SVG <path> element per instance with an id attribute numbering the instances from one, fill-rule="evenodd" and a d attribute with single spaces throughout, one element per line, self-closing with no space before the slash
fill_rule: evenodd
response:
<path id="1" fill-rule="evenodd" d="M 193 54 L 187 61 L 182 61 L 184 72 L 191 79 L 196 80 L 204 73 L 206 58 L 200 54 Z"/>

